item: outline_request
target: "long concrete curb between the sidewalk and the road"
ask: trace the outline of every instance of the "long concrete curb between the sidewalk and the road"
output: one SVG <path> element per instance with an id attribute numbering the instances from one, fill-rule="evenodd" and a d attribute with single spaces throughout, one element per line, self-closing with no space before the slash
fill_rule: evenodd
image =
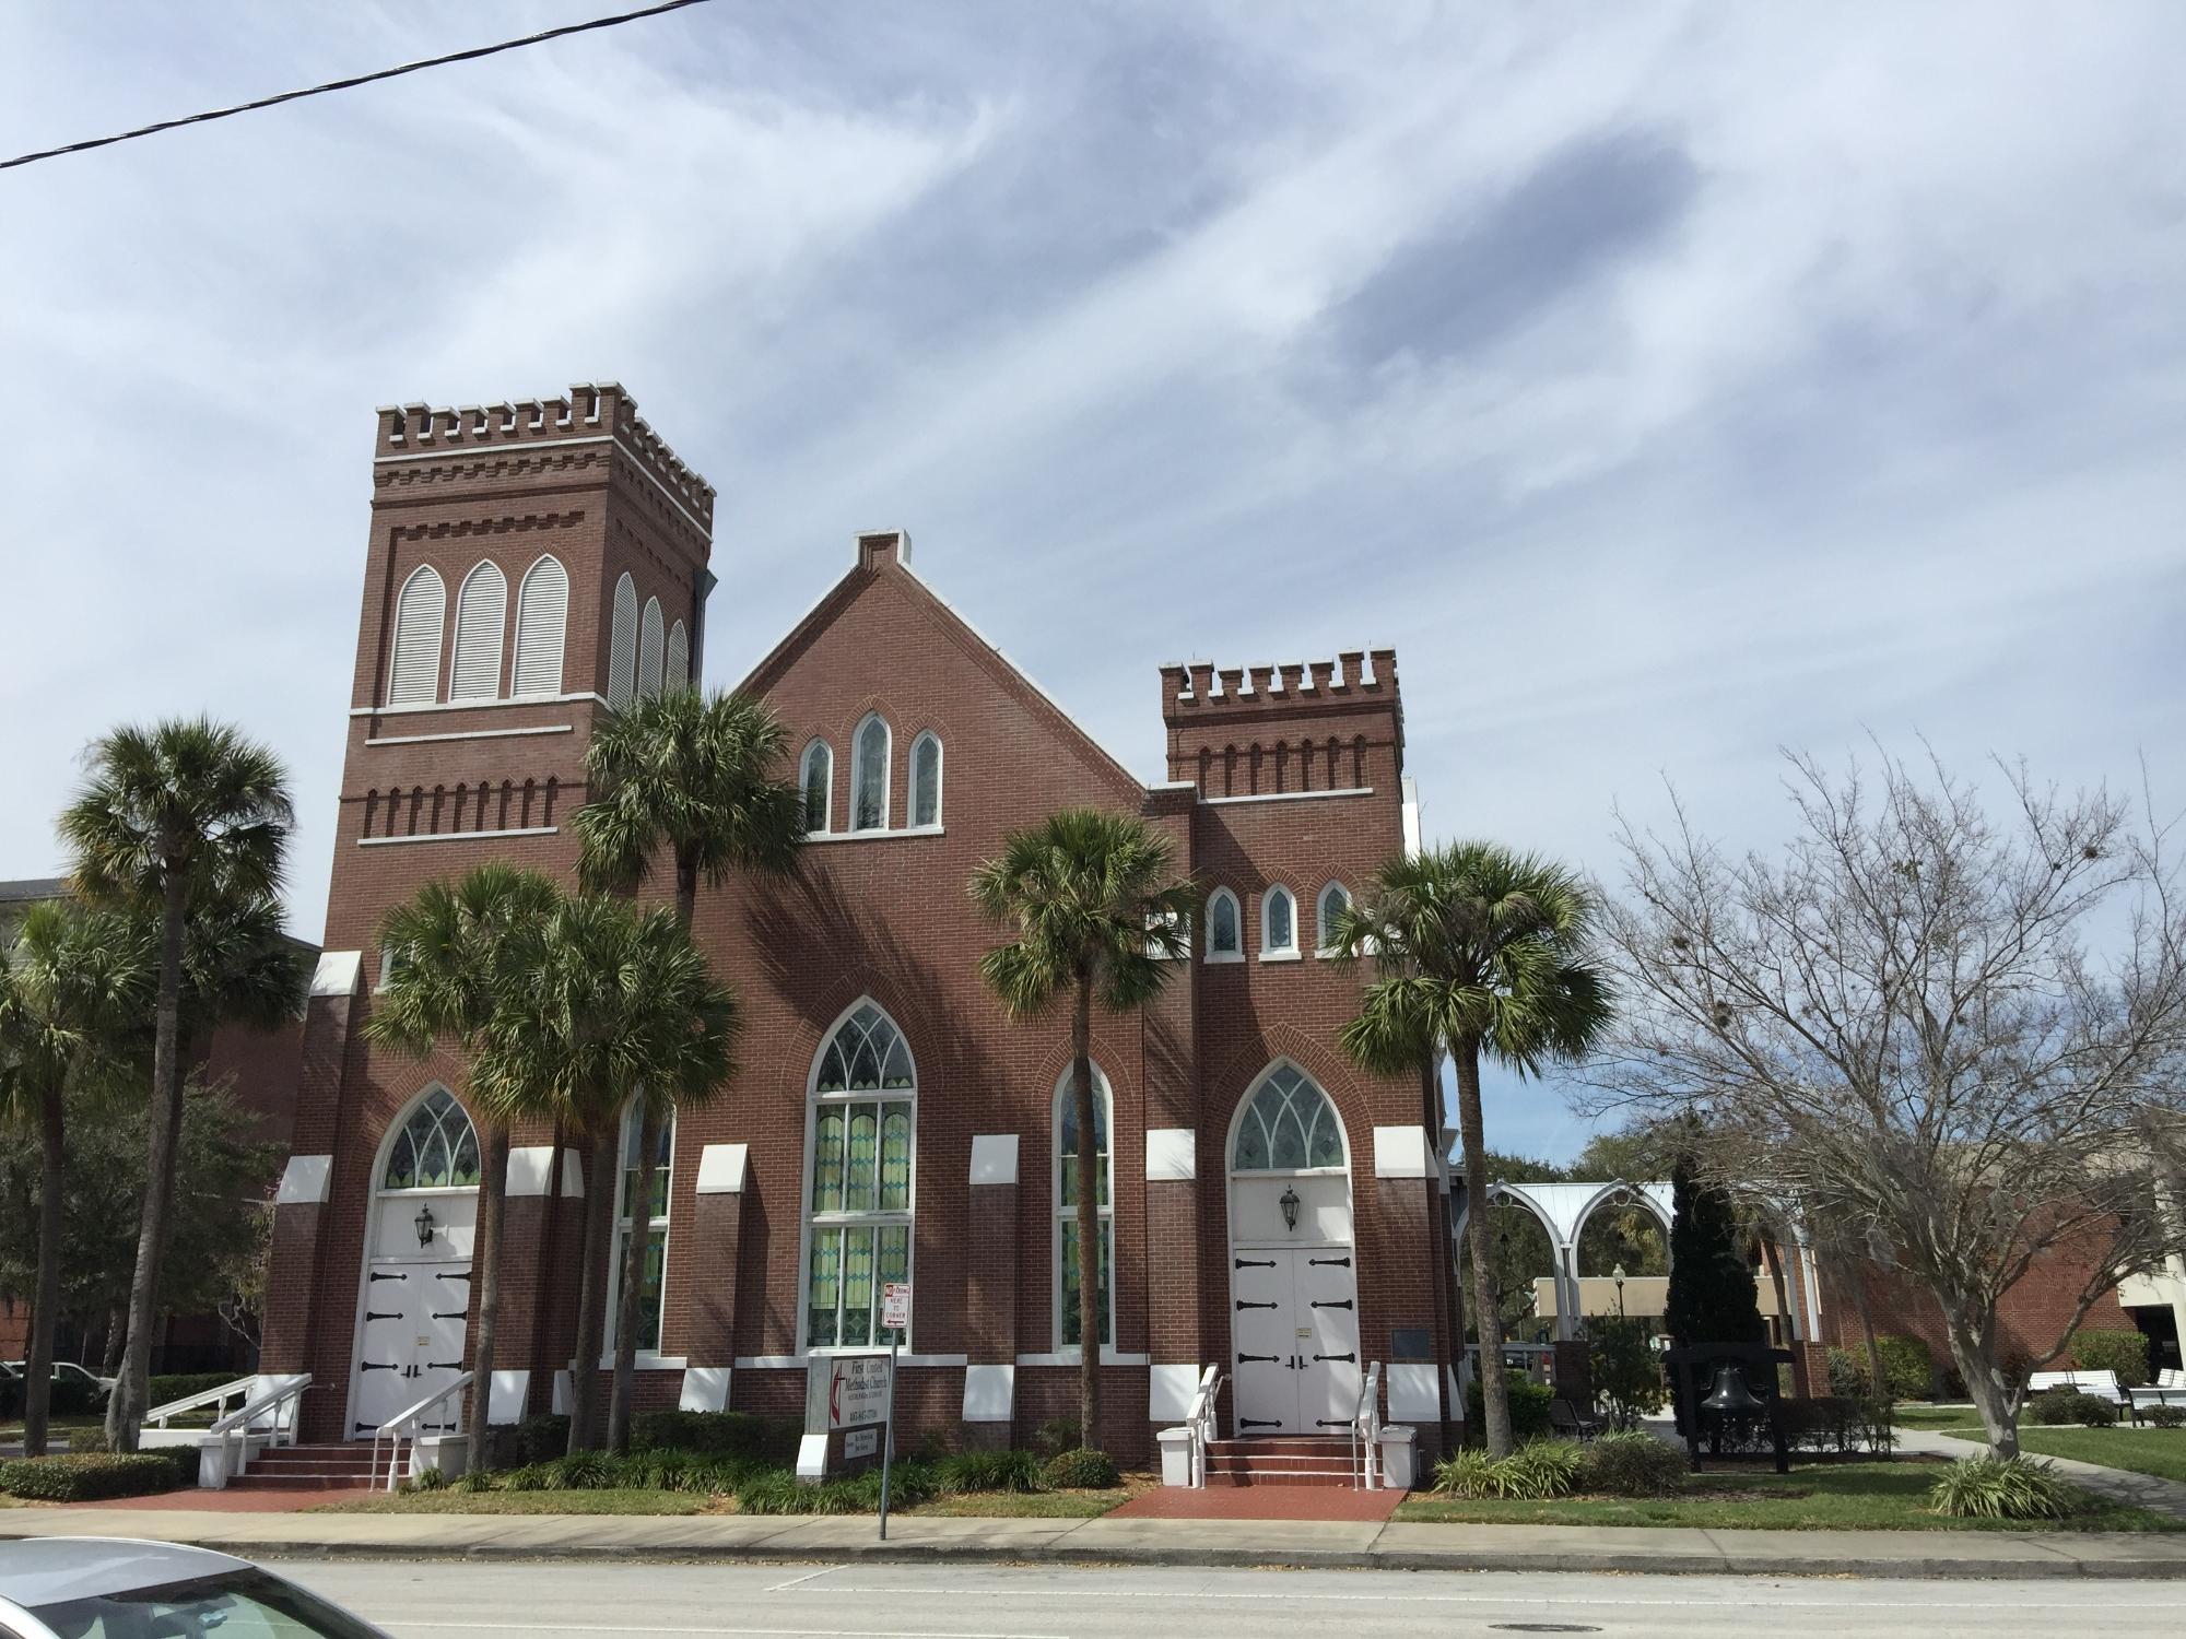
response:
<path id="1" fill-rule="evenodd" d="M 9 1536 L 0 1525 L 0 1536 Z M 254 1560 L 496 1560 L 496 1563 L 573 1563 L 573 1565 L 1130 1565 L 1189 1569 L 1301 1569 L 1301 1571 L 1585 1571 L 1615 1576 L 1832 1576 L 1884 1582 L 1994 1582 L 1994 1580 L 2186 1580 L 2186 1558 L 1976 1558 L 1952 1554 L 1941 1558 L 1873 1560 L 1856 1556 L 1814 1554 L 1626 1554 L 1618 1549 L 1250 1549 L 1250 1547 L 1069 1547 L 984 1543 L 859 1543 L 831 1545 L 824 1554 L 811 1547 L 520 1547 L 498 1543 L 477 1545 L 387 1545 L 387 1543 L 251 1543 L 223 1538 L 203 1543 L 223 1554 Z"/>

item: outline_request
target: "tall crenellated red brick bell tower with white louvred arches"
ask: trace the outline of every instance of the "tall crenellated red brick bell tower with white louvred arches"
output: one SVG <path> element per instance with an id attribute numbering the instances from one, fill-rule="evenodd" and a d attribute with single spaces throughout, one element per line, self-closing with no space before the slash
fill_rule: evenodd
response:
<path id="1" fill-rule="evenodd" d="M 713 485 L 614 382 L 516 404 L 378 413 L 326 955 L 306 1016 L 262 1346 L 262 1370 L 313 1375 L 308 1438 L 345 1438 L 361 1412 L 359 1326 L 385 1305 L 352 1298 L 385 1252 L 376 1171 L 391 1125 L 409 1117 L 420 1088 L 463 1086 L 459 1064 L 420 1064 L 363 1040 L 359 1025 L 383 979 L 380 918 L 422 883 L 490 859 L 575 881 L 566 822 L 584 802 L 597 715 L 697 677 L 713 500 Z M 568 1318 L 546 1313 L 531 1281 L 540 1263 L 531 1248 L 575 1213 L 575 1202 L 546 1211 L 549 1154 L 542 1134 L 516 1132 L 507 1366 L 568 1353 L 555 1342 Z M 459 1233 L 446 1241 L 468 1254 Z M 442 1340 L 428 1353 L 455 1351 Z M 400 1370 L 404 1388 L 418 1381 Z M 533 1394 L 527 1379 L 496 1372 L 494 1420 L 544 1403 L 544 1386 Z"/>

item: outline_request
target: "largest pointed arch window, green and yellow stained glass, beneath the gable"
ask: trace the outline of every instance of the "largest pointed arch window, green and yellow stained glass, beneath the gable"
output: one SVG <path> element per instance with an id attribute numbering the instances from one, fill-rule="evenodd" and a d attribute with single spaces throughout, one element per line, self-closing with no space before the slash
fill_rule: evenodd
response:
<path id="1" fill-rule="evenodd" d="M 813 1066 L 807 1348 L 870 1348 L 890 1340 L 881 1326 L 881 1287 L 912 1278 L 916 1108 L 918 1071 L 903 1031 L 861 1001 Z"/>

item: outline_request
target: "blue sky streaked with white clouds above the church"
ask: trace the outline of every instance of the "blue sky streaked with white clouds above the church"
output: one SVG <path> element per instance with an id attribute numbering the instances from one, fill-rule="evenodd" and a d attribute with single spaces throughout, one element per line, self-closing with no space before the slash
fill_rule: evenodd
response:
<path id="1" fill-rule="evenodd" d="M 17 7 L 0 149 L 573 22 Z M 721 492 L 708 680 L 905 524 L 1159 774 L 1154 667 L 1395 645 L 1434 835 L 1926 734 L 2186 800 L 2173 4 L 721 0 L 0 173 L 11 800 L 295 769 L 317 933 L 372 406 L 621 380 Z M 1570 1154 L 1554 1088 L 1493 1141 Z"/>

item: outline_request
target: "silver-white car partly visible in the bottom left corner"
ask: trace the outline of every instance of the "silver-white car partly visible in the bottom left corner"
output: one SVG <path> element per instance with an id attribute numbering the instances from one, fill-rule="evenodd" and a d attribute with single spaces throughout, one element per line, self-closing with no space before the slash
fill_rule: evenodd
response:
<path id="1" fill-rule="evenodd" d="M 387 1639 L 249 1560 L 116 1536 L 0 1543 L 0 1639 Z"/>

